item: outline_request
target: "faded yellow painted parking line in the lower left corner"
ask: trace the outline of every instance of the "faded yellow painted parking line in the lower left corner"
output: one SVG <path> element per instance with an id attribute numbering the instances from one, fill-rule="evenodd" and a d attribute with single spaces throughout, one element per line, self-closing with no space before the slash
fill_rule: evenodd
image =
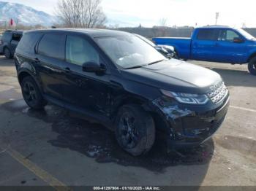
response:
<path id="1" fill-rule="evenodd" d="M 42 168 L 39 168 L 38 165 L 32 163 L 31 160 L 21 155 L 20 152 L 17 152 L 15 149 L 12 149 L 11 147 L 7 147 L 7 149 L 5 149 L 5 152 L 7 152 L 11 157 L 13 157 L 20 164 L 22 164 L 24 167 L 29 169 L 29 171 L 37 175 L 40 179 L 42 179 L 44 182 L 46 182 L 48 185 L 50 185 L 54 189 L 58 191 L 71 190 L 69 187 L 67 187 L 66 184 L 59 181 L 55 177 L 53 177 L 51 174 L 49 174 L 47 171 L 43 170 Z"/>

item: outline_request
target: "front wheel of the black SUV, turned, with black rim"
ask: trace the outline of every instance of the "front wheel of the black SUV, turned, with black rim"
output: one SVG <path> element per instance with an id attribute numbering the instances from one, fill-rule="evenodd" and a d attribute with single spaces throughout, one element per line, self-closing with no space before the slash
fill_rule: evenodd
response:
<path id="1" fill-rule="evenodd" d="M 155 126 L 150 114 L 140 106 L 125 105 L 116 117 L 116 139 L 133 156 L 143 155 L 154 144 Z"/>

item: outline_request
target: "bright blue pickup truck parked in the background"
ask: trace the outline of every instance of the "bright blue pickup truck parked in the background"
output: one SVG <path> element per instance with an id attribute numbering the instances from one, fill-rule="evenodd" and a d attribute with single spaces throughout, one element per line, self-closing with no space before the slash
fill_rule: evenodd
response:
<path id="1" fill-rule="evenodd" d="M 156 44 L 175 48 L 179 58 L 221 63 L 248 63 L 256 75 L 256 39 L 241 28 L 207 26 L 195 28 L 191 38 L 153 38 Z"/>

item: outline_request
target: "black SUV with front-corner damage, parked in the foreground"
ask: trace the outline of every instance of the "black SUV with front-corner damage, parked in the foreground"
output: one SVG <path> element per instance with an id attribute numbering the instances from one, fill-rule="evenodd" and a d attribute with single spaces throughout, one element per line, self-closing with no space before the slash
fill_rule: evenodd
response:
<path id="1" fill-rule="evenodd" d="M 23 34 L 15 52 L 23 98 L 33 109 L 51 102 L 116 132 L 132 155 L 157 136 L 170 147 L 195 146 L 222 124 L 229 93 L 214 71 L 168 60 L 133 34 L 51 29 Z"/>

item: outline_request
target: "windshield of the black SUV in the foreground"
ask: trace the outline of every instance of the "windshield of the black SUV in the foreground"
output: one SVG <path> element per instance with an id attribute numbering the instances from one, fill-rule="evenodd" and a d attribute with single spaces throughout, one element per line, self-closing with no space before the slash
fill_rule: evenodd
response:
<path id="1" fill-rule="evenodd" d="M 146 66 L 166 58 L 137 36 L 111 36 L 98 38 L 102 50 L 123 69 Z"/>

